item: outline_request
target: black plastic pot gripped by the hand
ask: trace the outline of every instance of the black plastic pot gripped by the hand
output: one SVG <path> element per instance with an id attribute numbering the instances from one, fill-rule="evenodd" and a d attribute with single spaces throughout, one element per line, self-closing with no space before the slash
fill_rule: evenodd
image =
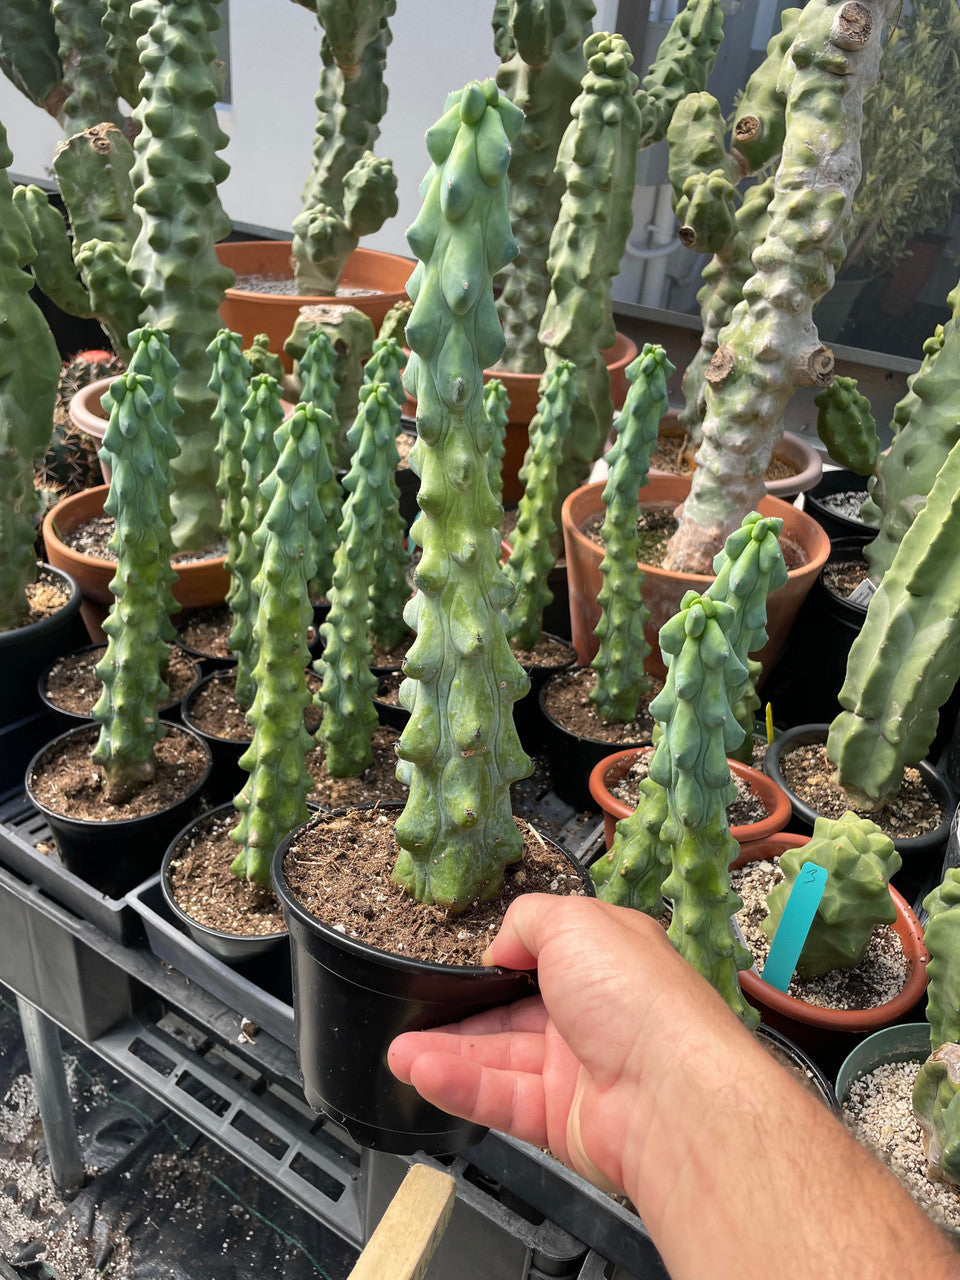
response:
<path id="1" fill-rule="evenodd" d="M 324 924 L 293 896 L 283 873 L 287 850 L 303 829 L 278 847 L 271 873 L 291 932 L 297 1052 L 307 1102 L 376 1151 L 439 1155 L 472 1146 L 486 1130 L 447 1115 L 397 1080 L 387 1066 L 387 1048 L 402 1032 L 532 995 L 535 975 L 389 955 Z M 573 865 L 591 892 L 589 877 Z"/>

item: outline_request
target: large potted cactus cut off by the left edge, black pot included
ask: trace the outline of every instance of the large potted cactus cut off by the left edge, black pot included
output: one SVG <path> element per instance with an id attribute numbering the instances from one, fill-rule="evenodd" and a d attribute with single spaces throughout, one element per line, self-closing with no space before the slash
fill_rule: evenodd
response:
<path id="1" fill-rule="evenodd" d="M 13 202 L 12 156 L 0 125 L 0 724 L 40 709 L 36 677 L 77 643 L 79 591 L 50 570 L 37 579 L 33 470 L 46 452 L 60 356 L 29 298 L 33 246 Z M 42 596 L 46 595 L 46 612 Z"/>

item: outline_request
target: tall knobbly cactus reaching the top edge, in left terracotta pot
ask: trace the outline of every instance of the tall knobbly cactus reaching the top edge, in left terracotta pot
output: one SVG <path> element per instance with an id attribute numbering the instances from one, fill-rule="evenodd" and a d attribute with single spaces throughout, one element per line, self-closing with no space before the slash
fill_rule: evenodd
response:
<path id="1" fill-rule="evenodd" d="M 131 10 L 145 35 L 133 165 L 141 227 L 129 273 L 142 294 L 143 317 L 170 334 L 180 365 L 177 399 L 183 416 L 172 498 L 173 538 L 180 549 L 209 547 L 220 529 L 207 347 L 220 328 L 219 307 L 233 273 L 220 266 L 214 248 L 230 230 L 216 193 L 229 173 L 216 154 L 227 145 L 216 123 L 212 69 L 218 3 L 136 0 Z"/>

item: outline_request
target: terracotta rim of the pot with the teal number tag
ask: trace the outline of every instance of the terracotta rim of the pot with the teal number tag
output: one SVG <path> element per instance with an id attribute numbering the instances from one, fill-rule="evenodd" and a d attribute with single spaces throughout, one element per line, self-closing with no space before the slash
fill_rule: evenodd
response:
<path id="1" fill-rule="evenodd" d="M 774 836 L 771 840 L 746 845 L 741 858 L 733 865 L 744 867 L 763 858 L 776 860 L 785 849 L 800 847 L 809 844 L 809 836 L 781 832 L 780 838 Z M 902 1018 L 914 1007 L 927 987 L 929 952 L 923 945 L 920 922 L 905 899 L 892 886 L 890 896 L 897 911 L 892 928 L 900 938 L 906 959 L 906 982 L 891 1000 L 882 1005 L 873 1005 L 870 1009 L 820 1009 L 818 1005 L 808 1005 L 804 1000 L 796 1000 L 786 992 L 777 991 L 776 987 L 771 987 L 749 969 L 741 970 L 739 975 L 744 995 L 753 997 L 758 1005 L 765 1006 L 783 1018 L 791 1018 L 794 1021 L 823 1030 L 858 1033 L 877 1030 Z"/>

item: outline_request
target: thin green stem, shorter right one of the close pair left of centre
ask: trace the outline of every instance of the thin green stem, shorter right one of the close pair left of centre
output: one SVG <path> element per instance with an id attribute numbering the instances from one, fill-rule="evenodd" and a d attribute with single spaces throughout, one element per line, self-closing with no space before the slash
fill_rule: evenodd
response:
<path id="1" fill-rule="evenodd" d="M 241 443 L 243 485 L 241 490 L 241 520 L 237 529 L 237 547 L 230 549 L 227 568 L 230 585 L 227 604 L 230 609 L 229 648 L 237 658 L 237 701 L 247 708 L 253 701 L 253 667 L 256 645 L 253 625 L 257 598 L 253 581 L 260 570 L 260 550 L 253 540 L 264 524 L 266 498 L 264 486 L 278 460 L 276 429 L 283 421 L 280 388 L 269 374 L 255 374 L 243 406 L 243 440 Z"/>

